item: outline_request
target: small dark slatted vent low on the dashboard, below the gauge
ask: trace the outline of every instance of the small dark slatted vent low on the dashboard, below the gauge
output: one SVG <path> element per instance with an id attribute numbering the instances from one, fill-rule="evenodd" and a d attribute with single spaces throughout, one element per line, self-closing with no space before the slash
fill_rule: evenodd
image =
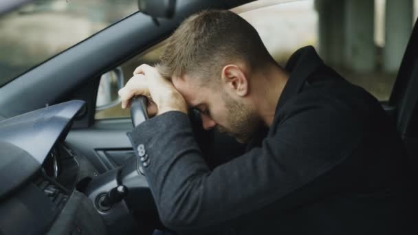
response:
<path id="1" fill-rule="evenodd" d="M 64 208 L 65 203 L 68 200 L 68 194 L 61 187 L 56 186 L 50 179 L 47 179 L 44 175 L 38 177 L 34 183 L 51 199 L 56 207 L 61 210 Z"/>

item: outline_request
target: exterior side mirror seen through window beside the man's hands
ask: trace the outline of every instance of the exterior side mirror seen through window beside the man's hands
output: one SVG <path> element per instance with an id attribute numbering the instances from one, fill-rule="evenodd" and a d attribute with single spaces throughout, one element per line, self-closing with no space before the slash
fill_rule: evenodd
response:
<path id="1" fill-rule="evenodd" d="M 124 76 L 121 67 L 117 67 L 100 78 L 96 99 L 96 111 L 108 109 L 120 104 L 118 91 L 124 86 Z"/>

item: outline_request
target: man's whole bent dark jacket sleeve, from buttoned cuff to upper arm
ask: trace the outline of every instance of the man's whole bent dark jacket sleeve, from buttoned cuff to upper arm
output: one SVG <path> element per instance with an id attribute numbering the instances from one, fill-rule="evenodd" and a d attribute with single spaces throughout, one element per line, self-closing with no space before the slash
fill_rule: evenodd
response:
<path id="1" fill-rule="evenodd" d="M 148 156 L 144 172 L 162 223 L 175 231 L 208 229 L 280 202 L 340 164 L 355 145 L 349 113 L 342 118 L 342 111 L 309 105 L 298 110 L 272 126 L 260 148 L 213 170 L 188 115 L 170 111 L 134 128 L 131 141 Z"/>

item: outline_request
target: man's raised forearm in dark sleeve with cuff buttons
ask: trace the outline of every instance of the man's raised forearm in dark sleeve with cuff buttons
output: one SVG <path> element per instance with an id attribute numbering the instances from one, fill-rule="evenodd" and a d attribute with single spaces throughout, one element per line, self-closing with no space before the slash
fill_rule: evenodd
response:
<path id="1" fill-rule="evenodd" d="M 184 221 L 194 217 L 188 211 L 196 209 L 192 201 L 198 192 L 190 190 L 199 185 L 210 169 L 195 142 L 187 115 L 179 112 L 163 115 L 170 117 L 154 117 L 135 128 L 131 136 L 135 146 L 146 146 L 150 165 L 143 167 L 144 172 L 163 223 L 173 228 L 177 227 L 177 224 L 170 226 L 173 219 Z M 168 131 L 170 128 L 176 131 Z"/>

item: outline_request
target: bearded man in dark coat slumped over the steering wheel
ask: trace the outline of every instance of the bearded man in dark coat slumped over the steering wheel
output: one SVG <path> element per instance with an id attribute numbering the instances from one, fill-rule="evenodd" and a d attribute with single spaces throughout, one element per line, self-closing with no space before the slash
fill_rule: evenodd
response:
<path id="1" fill-rule="evenodd" d="M 411 225 L 393 124 L 313 47 L 282 68 L 249 23 L 208 10 L 179 26 L 161 60 L 137 67 L 120 97 L 123 108 L 133 96 L 150 100 L 155 117 L 130 135 L 171 230 L 398 234 Z M 210 168 L 188 107 L 203 128 L 247 144 L 245 153 Z"/>

